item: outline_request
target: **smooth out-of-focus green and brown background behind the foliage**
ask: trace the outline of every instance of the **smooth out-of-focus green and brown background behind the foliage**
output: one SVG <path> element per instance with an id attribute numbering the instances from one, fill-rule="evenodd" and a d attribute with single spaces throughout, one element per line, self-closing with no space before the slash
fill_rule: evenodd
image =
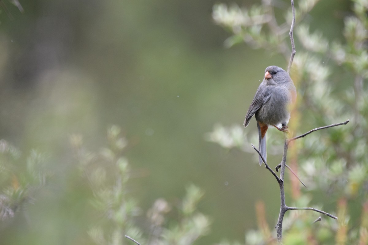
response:
<path id="1" fill-rule="evenodd" d="M 280 12 L 289 8 L 275 2 Z M 33 205 L 2 224 L 1 244 L 88 244 L 92 194 L 69 137 L 80 133 L 98 149 L 110 125 L 128 139 L 131 191 L 143 210 L 160 197 L 175 202 L 188 183 L 205 191 L 198 209 L 212 228 L 197 244 L 243 241 L 256 228 L 257 200 L 275 222 L 278 186 L 255 154 L 204 137 L 216 123 L 242 125 L 264 69 L 287 64 L 245 44 L 224 48 L 229 33 L 212 20 L 218 1 L 21 1 L 24 14 L 4 3 L 14 20 L 1 12 L 0 135 L 25 154 L 46 152 L 53 176 Z M 350 8 L 347 0 L 321 1 L 307 23 L 340 38 Z"/>

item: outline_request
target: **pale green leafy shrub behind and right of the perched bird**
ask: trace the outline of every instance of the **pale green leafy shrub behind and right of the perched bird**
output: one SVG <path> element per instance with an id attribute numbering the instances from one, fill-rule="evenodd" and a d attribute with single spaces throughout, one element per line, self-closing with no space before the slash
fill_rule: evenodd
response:
<path id="1" fill-rule="evenodd" d="M 298 175 L 309 190 L 302 189 L 300 194 L 297 188 L 291 192 L 291 197 L 296 202 L 294 206 L 315 206 L 315 201 L 308 197 L 322 192 L 328 203 L 337 203 L 339 221 L 322 217 L 322 221 L 312 224 L 316 217 L 311 213 L 307 215 L 310 211 L 289 211 L 284 220 L 283 242 L 365 244 L 368 227 L 361 217 L 366 213 L 364 207 L 368 197 L 368 4 L 365 0 L 353 1 L 354 14 L 344 19 L 344 39 L 327 40 L 318 30 L 310 33 L 309 26 L 303 22 L 317 2 L 296 1 L 294 37 L 302 47 L 296 47 L 291 69 L 291 77 L 298 90 L 297 110 L 292 113 L 291 129 L 303 133 L 346 119 L 351 119 L 351 123 L 309 134 L 295 142 L 289 150 L 289 161 L 298 162 Z M 255 8 L 259 9 L 259 6 Z M 289 29 L 285 26 L 290 28 L 291 8 L 285 22 L 280 25 L 276 22 L 270 1 L 263 1 L 263 12 L 251 9 L 228 8 L 224 4 L 213 8 L 216 23 L 233 34 L 230 37 L 233 41 L 227 41 L 227 46 L 234 45 L 234 40 L 244 41 L 254 48 L 282 54 L 288 62 L 290 49 L 286 47 L 290 40 Z M 257 22 L 258 18 L 265 21 Z M 206 139 L 228 149 L 249 151 L 250 142 L 256 142 L 256 136 L 247 130 L 243 133 L 240 127 L 215 126 Z M 275 131 L 269 132 L 268 139 L 277 138 L 278 132 Z M 241 138 L 244 140 L 240 141 Z M 268 145 L 274 143 L 268 142 Z M 271 149 L 268 153 L 274 154 L 275 151 Z M 295 182 L 291 184 L 295 185 Z M 249 231 L 246 244 L 263 244 L 265 239 L 262 232 Z"/>

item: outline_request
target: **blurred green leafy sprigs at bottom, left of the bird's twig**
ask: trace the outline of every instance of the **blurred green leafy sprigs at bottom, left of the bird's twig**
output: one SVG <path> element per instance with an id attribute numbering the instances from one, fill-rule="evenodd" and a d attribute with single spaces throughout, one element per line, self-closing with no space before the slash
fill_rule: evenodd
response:
<path id="1" fill-rule="evenodd" d="M 187 187 L 187 195 L 176 206 L 175 219 L 166 217 L 173 215 L 173 206 L 159 198 L 146 212 L 144 222 L 139 223 L 143 211 L 132 196 L 129 180 L 133 170 L 123 156 L 127 140 L 120 137 L 117 126 L 109 128 L 107 139 L 108 147 L 90 152 L 83 147 L 81 136 L 71 137 L 79 169 L 93 192 L 91 205 L 101 216 L 88 231 L 95 244 L 130 244 L 124 237 L 129 235 L 141 244 L 189 245 L 208 233 L 209 219 L 197 211 L 204 192 L 195 185 Z"/>

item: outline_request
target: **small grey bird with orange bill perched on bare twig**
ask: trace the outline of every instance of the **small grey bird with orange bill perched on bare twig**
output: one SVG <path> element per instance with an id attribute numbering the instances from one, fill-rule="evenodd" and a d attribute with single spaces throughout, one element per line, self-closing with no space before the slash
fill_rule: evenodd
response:
<path id="1" fill-rule="evenodd" d="M 289 132 L 287 123 L 290 119 L 290 104 L 295 103 L 296 96 L 294 82 L 289 73 L 278 66 L 268 66 L 244 121 L 244 127 L 247 127 L 255 115 L 258 129 L 258 150 L 265 161 L 267 161 L 266 131 L 268 127 L 273 126 L 282 132 Z M 260 166 L 262 162 L 262 158 L 259 156 Z"/>

